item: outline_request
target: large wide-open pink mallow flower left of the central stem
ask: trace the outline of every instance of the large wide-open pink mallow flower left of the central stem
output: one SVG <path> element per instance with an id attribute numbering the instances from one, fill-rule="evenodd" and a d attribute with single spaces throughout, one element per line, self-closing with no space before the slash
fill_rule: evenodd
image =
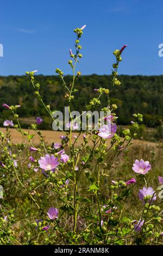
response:
<path id="1" fill-rule="evenodd" d="M 40 168 L 43 170 L 52 170 L 55 171 L 55 168 L 59 165 L 58 158 L 55 158 L 54 155 L 46 154 L 45 157 L 41 156 L 39 159 Z"/>

